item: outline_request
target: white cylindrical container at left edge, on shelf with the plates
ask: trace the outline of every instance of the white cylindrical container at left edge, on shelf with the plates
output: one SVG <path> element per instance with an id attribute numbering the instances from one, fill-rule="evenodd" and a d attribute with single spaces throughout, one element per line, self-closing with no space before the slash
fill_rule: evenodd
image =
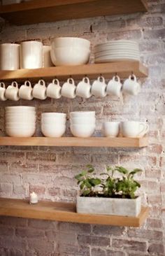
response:
<path id="1" fill-rule="evenodd" d="M 2 43 L 0 45 L 0 69 L 20 69 L 20 45 L 17 43 Z"/>

